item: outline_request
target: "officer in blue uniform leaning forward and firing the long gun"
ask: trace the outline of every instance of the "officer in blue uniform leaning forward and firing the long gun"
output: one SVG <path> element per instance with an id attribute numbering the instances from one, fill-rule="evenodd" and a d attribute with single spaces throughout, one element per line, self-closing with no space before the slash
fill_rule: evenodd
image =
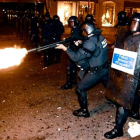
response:
<path id="1" fill-rule="evenodd" d="M 101 30 L 95 28 L 93 22 L 83 22 L 81 25 L 83 47 L 77 52 L 58 44 L 58 49 L 66 51 L 70 59 L 81 68 L 79 76 L 80 82 L 76 87 L 76 94 L 80 104 L 80 109 L 75 110 L 73 115 L 78 117 L 90 117 L 87 102 L 87 90 L 91 86 L 102 82 L 106 87 L 109 79 L 108 68 L 108 47 L 106 39 L 101 35 Z M 80 41 L 76 41 L 78 45 Z"/>

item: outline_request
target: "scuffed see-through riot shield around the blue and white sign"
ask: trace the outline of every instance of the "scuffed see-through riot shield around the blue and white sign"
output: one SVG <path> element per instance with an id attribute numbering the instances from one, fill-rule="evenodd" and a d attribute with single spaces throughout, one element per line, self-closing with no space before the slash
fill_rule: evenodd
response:
<path id="1" fill-rule="evenodd" d="M 140 36 L 138 38 L 140 38 Z M 119 104 L 127 109 L 132 108 L 135 92 L 139 82 L 140 39 L 138 38 L 137 42 L 132 43 L 133 46 L 124 46 L 124 49 L 129 48 L 130 51 L 132 51 L 130 48 L 135 48 L 135 51 L 138 53 L 134 74 L 131 75 L 126 72 L 111 68 L 110 79 L 105 93 L 105 97 L 108 100 L 110 100 L 114 104 Z"/>

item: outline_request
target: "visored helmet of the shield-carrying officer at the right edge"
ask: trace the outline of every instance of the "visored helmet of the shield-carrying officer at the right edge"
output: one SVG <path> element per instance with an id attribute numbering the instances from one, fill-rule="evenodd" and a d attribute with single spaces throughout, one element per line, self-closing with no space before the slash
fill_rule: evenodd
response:
<path id="1" fill-rule="evenodd" d="M 140 13 L 132 15 L 131 32 L 140 32 Z"/>

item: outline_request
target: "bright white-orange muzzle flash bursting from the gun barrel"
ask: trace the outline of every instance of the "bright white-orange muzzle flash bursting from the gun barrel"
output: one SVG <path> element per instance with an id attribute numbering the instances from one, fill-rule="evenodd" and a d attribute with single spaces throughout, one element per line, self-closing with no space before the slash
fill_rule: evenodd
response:
<path id="1" fill-rule="evenodd" d="M 19 65 L 26 54 L 27 50 L 25 48 L 0 49 L 0 69 Z"/>

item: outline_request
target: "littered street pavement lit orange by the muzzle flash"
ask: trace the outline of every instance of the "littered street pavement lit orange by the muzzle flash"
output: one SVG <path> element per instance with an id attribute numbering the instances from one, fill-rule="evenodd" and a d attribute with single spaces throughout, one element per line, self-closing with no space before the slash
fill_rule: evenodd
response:
<path id="1" fill-rule="evenodd" d="M 30 43 L 9 31 L 0 30 L 1 49 L 15 44 L 30 48 Z M 112 36 L 106 38 L 109 44 L 114 42 Z M 105 140 L 104 133 L 114 126 L 116 108 L 105 99 L 102 84 L 88 91 L 91 117 L 75 117 L 72 112 L 79 108 L 75 88 L 60 89 L 66 79 L 67 55 L 62 52 L 61 63 L 45 70 L 41 55 L 30 53 L 20 66 L 0 70 L 0 140 Z M 114 140 L 131 139 L 128 123 L 135 121 L 128 118 L 124 136 Z"/>

